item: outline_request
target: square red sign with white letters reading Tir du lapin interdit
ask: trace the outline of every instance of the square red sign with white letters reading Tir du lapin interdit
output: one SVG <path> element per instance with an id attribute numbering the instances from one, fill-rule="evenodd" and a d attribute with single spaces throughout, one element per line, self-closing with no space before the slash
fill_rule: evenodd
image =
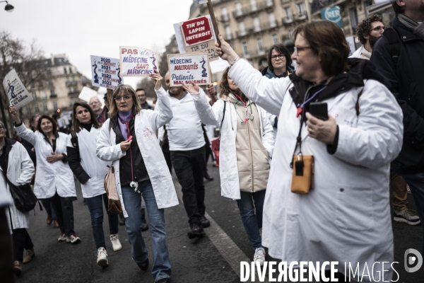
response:
<path id="1" fill-rule="evenodd" d="M 181 29 L 187 46 L 213 40 L 211 23 L 206 16 L 183 22 Z"/>

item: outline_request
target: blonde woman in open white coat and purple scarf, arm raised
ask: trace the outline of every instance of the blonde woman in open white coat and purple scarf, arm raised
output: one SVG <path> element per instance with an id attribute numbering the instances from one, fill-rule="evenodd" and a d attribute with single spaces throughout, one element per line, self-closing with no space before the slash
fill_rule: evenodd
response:
<path id="1" fill-rule="evenodd" d="M 172 108 L 161 86 L 162 76 L 158 71 L 150 76 L 158 96 L 156 110 L 142 110 L 131 86 L 117 86 L 110 101 L 110 119 L 100 132 L 97 156 L 113 161 L 131 255 L 141 270 L 147 270 L 148 250 L 141 235 L 143 195 L 153 241 L 152 275 L 155 282 L 164 283 L 171 277 L 164 208 L 177 205 L 178 199 L 155 132 L 172 119 Z"/>

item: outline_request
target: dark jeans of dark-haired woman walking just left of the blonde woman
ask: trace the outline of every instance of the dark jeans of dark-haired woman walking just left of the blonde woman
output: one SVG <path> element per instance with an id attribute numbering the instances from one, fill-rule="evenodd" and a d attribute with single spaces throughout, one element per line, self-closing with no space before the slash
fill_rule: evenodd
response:
<path id="1" fill-rule="evenodd" d="M 91 228 L 93 229 L 93 238 L 95 248 L 106 248 L 105 233 L 103 232 L 103 203 L 107 211 L 107 195 L 98 195 L 86 198 L 87 207 L 91 215 Z M 118 214 L 107 212 L 109 219 L 110 235 L 118 233 Z"/>

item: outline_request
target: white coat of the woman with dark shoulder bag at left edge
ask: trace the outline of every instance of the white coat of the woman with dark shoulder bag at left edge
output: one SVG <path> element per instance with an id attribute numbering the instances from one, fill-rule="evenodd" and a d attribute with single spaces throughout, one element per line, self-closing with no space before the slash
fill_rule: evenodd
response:
<path id="1" fill-rule="evenodd" d="M 10 140 L 9 140 L 10 141 Z M 0 170 L 3 171 L 0 167 Z M 11 191 L 9 185 L 6 183 L 6 179 L 3 175 L 4 172 L 0 173 L 0 186 L 6 187 L 6 200 L 12 200 Z M 25 147 L 19 142 L 12 144 L 12 149 L 8 154 L 7 164 L 7 178 L 13 185 L 24 185 L 31 182 L 34 175 L 34 163 L 31 161 L 28 152 Z M 30 225 L 30 212 L 20 212 L 16 209 L 15 204 L 11 202 L 11 205 L 6 208 L 6 218 L 8 222 L 9 231 L 11 230 L 11 220 L 13 229 L 28 228 Z"/>

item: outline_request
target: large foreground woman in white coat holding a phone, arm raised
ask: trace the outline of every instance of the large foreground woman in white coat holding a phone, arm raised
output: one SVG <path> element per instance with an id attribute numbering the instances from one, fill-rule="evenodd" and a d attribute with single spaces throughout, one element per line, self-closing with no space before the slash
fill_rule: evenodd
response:
<path id="1" fill-rule="evenodd" d="M 337 25 L 314 21 L 294 35 L 298 69 L 284 79 L 261 76 L 222 37 L 216 48 L 246 96 L 279 115 L 263 245 L 283 261 L 338 261 L 342 274 L 350 262 L 359 270 L 372 266 L 374 278 L 389 270 L 384 277 L 391 278 L 381 262 L 393 262 L 389 164 L 401 149 L 401 109 L 372 64 L 348 59 Z M 328 120 L 311 115 L 311 101 L 327 103 Z M 307 195 L 290 191 L 290 163 L 300 151 L 315 161 Z"/>

